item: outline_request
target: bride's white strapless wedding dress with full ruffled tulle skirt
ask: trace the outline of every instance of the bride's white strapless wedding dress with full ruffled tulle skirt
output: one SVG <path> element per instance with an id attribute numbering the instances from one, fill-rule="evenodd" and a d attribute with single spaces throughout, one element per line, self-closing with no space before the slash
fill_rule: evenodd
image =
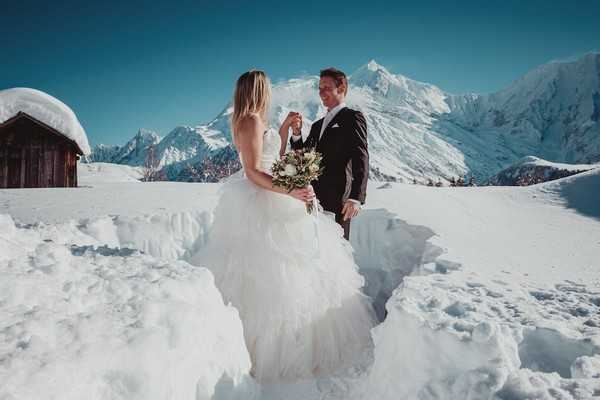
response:
<path id="1" fill-rule="evenodd" d="M 265 132 L 264 171 L 280 143 L 275 130 Z M 332 216 L 315 221 L 302 202 L 243 173 L 223 184 L 208 241 L 192 262 L 213 272 L 225 302 L 239 310 L 258 381 L 337 373 L 369 354 L 375 317 L 342 234 Z"/>

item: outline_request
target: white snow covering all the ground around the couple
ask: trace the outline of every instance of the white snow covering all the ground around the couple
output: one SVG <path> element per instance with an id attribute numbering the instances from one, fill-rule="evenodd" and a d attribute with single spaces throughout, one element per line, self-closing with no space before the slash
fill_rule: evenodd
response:
<path id="1" fill-rule="evenodd" d="M 378 186 L 351 231 L 382 320 L 370 370 L 263 387 L 247 376 L 235 310 L 186 262 L 219 184 L 0 190 L 0 214 L 11 216 L 0 219 L 0 381 L 11 382 L 0 397 L 69 398 L 73 385 L 52 386 L 39 360 L 58 366 L 59 382 L 98 388 L 96 398 L 153 398 L 168 385 L 189 393 L 197 382 L 208 396 L 199 398 L 598 396 L 599 169 L 530 187 Z M 128 306 L 152 312 L 117 312 Z"/>

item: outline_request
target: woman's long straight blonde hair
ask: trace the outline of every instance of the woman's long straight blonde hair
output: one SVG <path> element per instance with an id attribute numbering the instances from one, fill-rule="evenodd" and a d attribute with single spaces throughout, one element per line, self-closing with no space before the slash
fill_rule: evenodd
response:
<path id="1" fill-rule="evenodd" d="M 267 112 L 271 103 L 271 82 L 263 71 L 250 70 L 238 78 L 233 94 L 233 114 L 231 129 L 235 134 L 244 117 L 258 114 L 267 122 Z"/>

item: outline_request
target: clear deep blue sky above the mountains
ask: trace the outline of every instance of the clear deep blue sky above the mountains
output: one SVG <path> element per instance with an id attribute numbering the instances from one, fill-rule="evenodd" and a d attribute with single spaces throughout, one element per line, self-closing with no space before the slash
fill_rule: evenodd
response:
<path id="1" fill-rule="evenodd" d="M 92 144 L 207 122 L 250 68 L 278 81 L 375 59 L 451 93 L 491 92 L 600 49 L 599 1 L 12 3 L 0 88 L 61 99 Z"/>

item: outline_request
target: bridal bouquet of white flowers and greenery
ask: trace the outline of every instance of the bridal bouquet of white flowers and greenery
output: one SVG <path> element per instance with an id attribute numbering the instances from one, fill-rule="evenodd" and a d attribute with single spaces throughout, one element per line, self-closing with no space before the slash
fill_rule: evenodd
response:
<path id="1" fill-rule="evenodd" d="M 310 185 L 323 173 L 323 168 L 320 166 L 322 158 L 315 149 L 292 150 L 285 153 L 271 167 L 273 185 L 284 188 L 288 192 Z M 306 212 L 312 214 L 314 207 L 314 202 L 306 203 Z"/>

